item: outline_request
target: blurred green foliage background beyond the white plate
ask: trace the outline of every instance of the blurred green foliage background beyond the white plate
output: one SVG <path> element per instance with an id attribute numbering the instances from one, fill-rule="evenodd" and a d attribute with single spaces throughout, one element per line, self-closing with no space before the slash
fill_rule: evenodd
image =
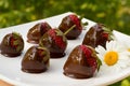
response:
<path id="1" fill-rule="evenodd" d="M 130 0 L 0 0 L 0 28 L 65 12 L 130 34 Z M 130 86 L 130 77 L 112 86 Z"/>

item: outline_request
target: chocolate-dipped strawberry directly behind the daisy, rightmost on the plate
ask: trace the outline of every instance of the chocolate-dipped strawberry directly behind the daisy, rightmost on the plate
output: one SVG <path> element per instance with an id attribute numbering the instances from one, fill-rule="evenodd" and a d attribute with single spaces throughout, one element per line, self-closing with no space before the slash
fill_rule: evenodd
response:
<path id="1" fill-rule="evenodd" d="M 86 33 L 82 44 L 90 45 L 92 47 L 96 47 L 98 45 L 105 47 L 106 41 L 112 40 L 109 38 L 110 35 L 112 33 L 109 29 L 107 29 L 103 24 L 96 24 Z"/>

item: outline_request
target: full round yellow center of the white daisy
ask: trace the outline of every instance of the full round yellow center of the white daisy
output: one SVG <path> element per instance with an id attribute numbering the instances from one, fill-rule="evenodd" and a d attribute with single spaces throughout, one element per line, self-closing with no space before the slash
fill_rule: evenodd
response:
<path id="1" fill-rule="evenodd" d="M 104 56 L 104 61 L 107 66 L 114 66 L 118 61 L 117 52 L 108 52 Z"/>

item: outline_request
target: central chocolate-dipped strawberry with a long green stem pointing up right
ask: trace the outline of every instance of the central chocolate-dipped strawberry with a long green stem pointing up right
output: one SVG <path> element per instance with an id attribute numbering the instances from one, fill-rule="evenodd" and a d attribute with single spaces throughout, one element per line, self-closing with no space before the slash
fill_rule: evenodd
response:
<path id="1" fill-rule="evenodd" d="M 67 40 L 61 30 L 50 29 L 40 39 L 39 45 L 50 51 L 51 58 L 61 58 L 65 56 Z"/>

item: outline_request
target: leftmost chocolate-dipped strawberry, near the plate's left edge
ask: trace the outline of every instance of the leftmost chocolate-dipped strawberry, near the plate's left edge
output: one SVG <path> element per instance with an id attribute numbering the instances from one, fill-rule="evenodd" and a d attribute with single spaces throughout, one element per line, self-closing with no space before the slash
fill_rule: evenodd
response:
<path id="1" fill-rule="evenodd" d="M 8 33 L 1 44 L 0 52 L 4 56 L 16 57 L 20 56 L 24 48 L 24 40 L 20 33 Z"/>

